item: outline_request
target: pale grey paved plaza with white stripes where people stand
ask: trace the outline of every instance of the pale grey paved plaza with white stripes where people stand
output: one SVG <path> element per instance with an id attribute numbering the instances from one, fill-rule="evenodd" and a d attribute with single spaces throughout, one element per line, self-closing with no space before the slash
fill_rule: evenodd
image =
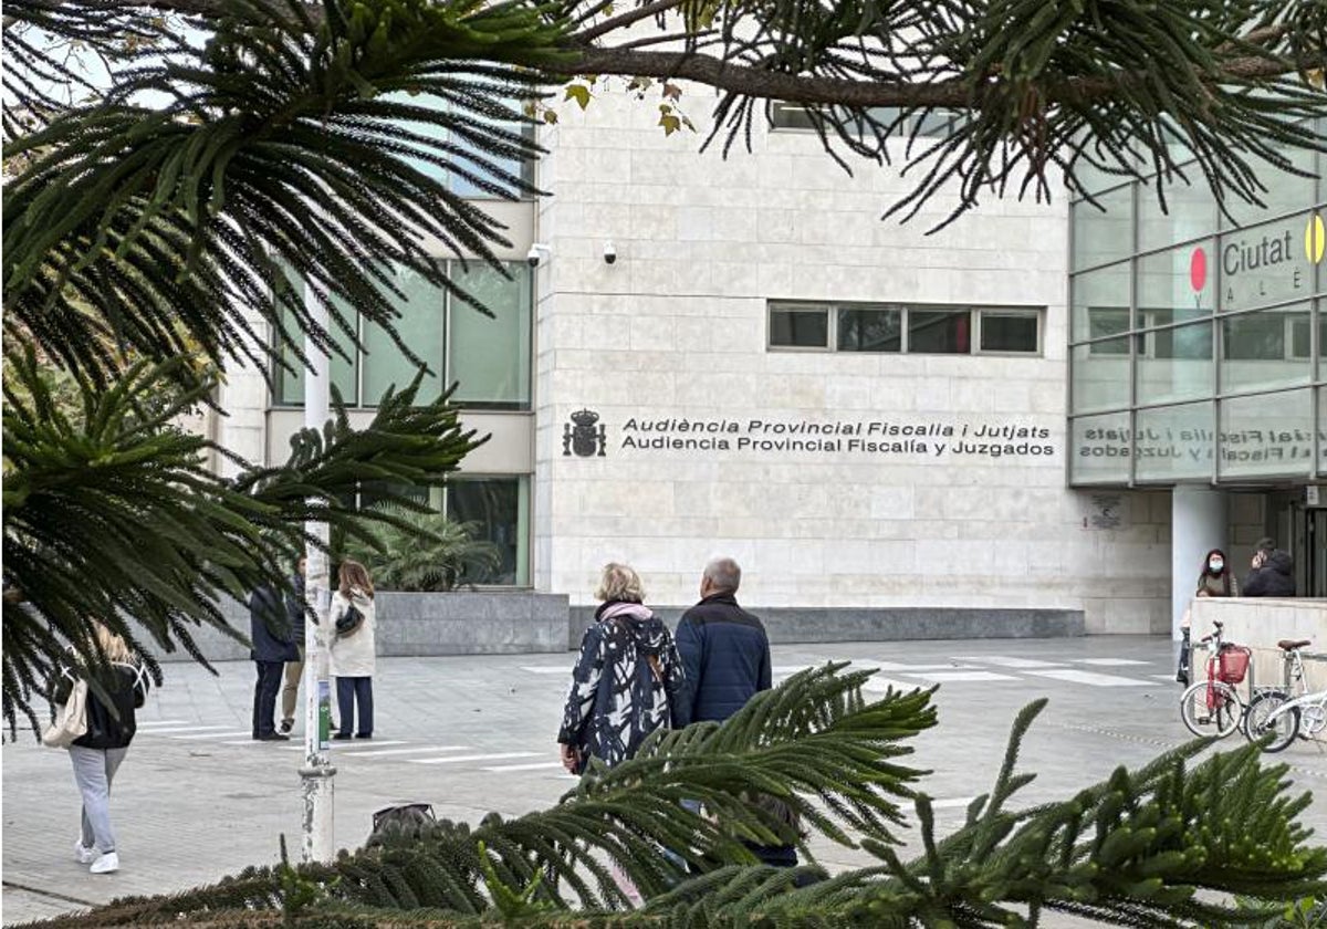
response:
<path id="1" fill-rule="evenodd" d="M 940 683 L 940 725 L 916 741 L 917 767 L 934 771 L 941 827 L 955 827 L 1003 755 L 1014 714 L 1051 702 L 1034 726 L 1023 770 L 1039 778 L 1023 803 L 1062 798 L 1180 745 L 1174 649 L 1157 637 L 783 645 L 775 676 L 847 658 L 880 668 L 873 686 Z M 427 800 L 439 816 L 478 820 L 551 804 L 572 786 L 555 735 L 573 654 L 380 658 L 376 738 L 334 742 L 336 837 L 356 847 L 374 810 Z M 111 798 L 122 869 L 93 876 L 73 860 L 78 795 L 66 754 L 31 733 L 3 749 L 4 922 L 113 897 L 179 891 L 248 864 L 277 860 L 277 836 L 299 848 L 301 742 L 249 739 L 253 666 L 212 677 L 167 665 L 166 685 L 139 715 L 139 734 Z M 1239 738 L 1239 737 L 1233 737 Z M 1327 786 L 1327 755 L 1298 743 L 1281 759 L 1306 790 Z M 1306 814 L 1327 828 L 1327 804 Z M 860 864 L 860 852 L 816 845 L 821 861 Z M 1066 924 L 1067 925 L 1067 924 Z"/>

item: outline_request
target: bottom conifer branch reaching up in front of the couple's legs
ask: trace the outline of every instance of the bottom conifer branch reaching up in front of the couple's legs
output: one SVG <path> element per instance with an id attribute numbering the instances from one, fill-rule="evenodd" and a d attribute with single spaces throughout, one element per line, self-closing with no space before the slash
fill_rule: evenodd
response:
<path id="1" fill-rule="evenodd" d="M 844 844 L 853 844 L 848 831 L 857 828 L 889 840 L 898 823 L 896 800 L 909 796 L 920 776 L 898 763 L 910 752 L 901 743 L 934 725 L 934 710 L 922 691 L 868 702 L 867 677 L 843 673 L 843 665 L 802 672 L 723 725 L 661 733 L 630 762 L 596 767 L 551 810 L 514 819 L 490 814 L 475 827 L 445 820 L 422 827 L 414 844 L 391 843 L 299 871 L 341 904 L 417 910 L 411 916 L 431 909 L 463 921 L 492 916 L 490 887 L 528 901 L 511 900 L 512 906 L 620 910 L 628 901 L 608 863 L 657 896 L 685 877 L 664 848 L 705 869 L 750 863 L 734 833 L 770 840 L 779 825 L 738 799 L 743 792 L 779 794 L 803 810 L 815 803 L 808 825 Z M 710 816 L 682 808 L 683 798 L 703 800 Z M 94 912 L 52 925 L 137 925 L 178 913 L 265 909 L 276 880 L 272 869 L 251 869 L 186 894 L 121 901 L 109 920 Z"/>

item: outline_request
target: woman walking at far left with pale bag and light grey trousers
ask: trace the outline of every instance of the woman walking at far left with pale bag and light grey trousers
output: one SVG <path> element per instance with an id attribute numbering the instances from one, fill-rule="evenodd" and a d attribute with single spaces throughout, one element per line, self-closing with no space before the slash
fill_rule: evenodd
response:
<path id="1" fill-rule="evenodd" d="M 142 664 L 123 638 L 101 622 L 93 624 L 93 632 L 110 674 L 97 678 L 100 687 L 88 686 L 86 731 L 68 746 L 74 783 L 82 795 L 82 829 L 74 843 L 74 859 L 90 865 L 88 869 L 94 875 L 109 875 L 119 871 L 115 831 L 110 823 L 110 784 L 134 741 L 138 729 L 134 710 L 146 702 L 149 683 Z M 68 702 L 80 677 L 86 681 L 90 676 L 73 666 L 58 669 L 50 689 L 52 702 Z"/>

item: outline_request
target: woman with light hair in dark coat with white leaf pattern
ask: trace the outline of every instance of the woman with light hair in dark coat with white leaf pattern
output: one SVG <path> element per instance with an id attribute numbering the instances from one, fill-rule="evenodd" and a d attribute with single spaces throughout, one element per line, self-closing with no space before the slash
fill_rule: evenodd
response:
<path id="1" fill-rule="evenodd" d="M 594 592 L 604 604 L 585 630 L 572 672 L 563 726 L 563 764 L 581 774 L 589 758 L 617 764 L 657 729 L 685 725 L 682 661 L 667 626 L 644 605 L 641 579 L 606 564 Z"/>

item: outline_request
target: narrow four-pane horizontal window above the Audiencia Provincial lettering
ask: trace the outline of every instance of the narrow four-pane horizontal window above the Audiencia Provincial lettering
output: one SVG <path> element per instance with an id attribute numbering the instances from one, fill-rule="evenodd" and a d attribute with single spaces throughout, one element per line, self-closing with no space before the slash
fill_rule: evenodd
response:
<path id="1" fill-rule="evenodd" d="M 770 304 L 770 348 L 910 354 L 1039 354 L 1035 308 Z"/>

